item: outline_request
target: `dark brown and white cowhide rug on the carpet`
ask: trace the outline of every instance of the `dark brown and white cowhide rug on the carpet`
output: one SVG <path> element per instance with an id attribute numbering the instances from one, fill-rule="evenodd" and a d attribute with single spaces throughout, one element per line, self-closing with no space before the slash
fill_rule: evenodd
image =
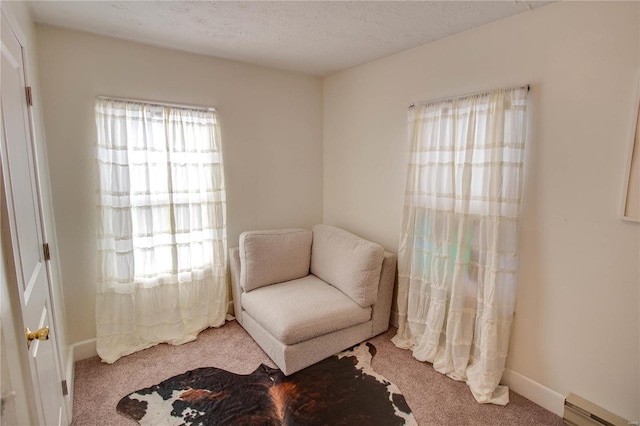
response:
<path id="1" fill-rule="evenodd" d="M 261 364 L 249 375 L 198 368 L 122 398 L 141 425 L 416 425 L 396 385 L 371 368 L 362 343 L 285 376 Z"/>

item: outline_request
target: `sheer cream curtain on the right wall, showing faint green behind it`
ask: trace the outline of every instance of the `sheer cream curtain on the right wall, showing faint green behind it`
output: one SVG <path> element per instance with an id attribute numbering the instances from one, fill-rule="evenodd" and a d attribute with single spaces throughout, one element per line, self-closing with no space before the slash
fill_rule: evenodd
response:
<path id="1" fill-rule="evenodd" d="M 466 381 L 499 386 L 516 300 L 528 89 L 418 105 L 398 253 L 396 346 Z"/>

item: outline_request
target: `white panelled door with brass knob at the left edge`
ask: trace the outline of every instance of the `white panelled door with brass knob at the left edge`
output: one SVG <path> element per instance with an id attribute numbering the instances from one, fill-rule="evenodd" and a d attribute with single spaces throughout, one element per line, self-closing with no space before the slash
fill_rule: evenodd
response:
<path id="1" fill-rule="evenodd" d="M 35 146 L 25 96 L 23 49 L 2 14 L 2 184 L 7 203 L 15 281 L 23 327 L 32 331 L 49 328 L 48 340 L 19 342 L 28 359 L 39 424 L 67 424 L 63 409 L 62 380 L 49 293 L 47 259 L 44 253 L 43 220 L 37 182 Z M 3 230 L 7 227 L 3 226 Z M 41 335 L 44 338 L 43 333 Z"/>

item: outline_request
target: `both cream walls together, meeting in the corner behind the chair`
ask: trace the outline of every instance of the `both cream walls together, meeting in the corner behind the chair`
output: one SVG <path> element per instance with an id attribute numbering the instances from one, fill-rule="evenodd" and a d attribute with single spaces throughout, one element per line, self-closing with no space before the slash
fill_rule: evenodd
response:
<path id="1" fill-rule="evenodd" d="M 96 95 L 218 109 L 230 246 L 324 213 L 396 251 L 407 106 L 530 83 L 508 367 L 637 420 L 640 227 L 619 207 L 639 28 L 637 2 L 553 4 L 329 76 L 323 98 L 314 77 L 38 27 L 69 341 L 95 336 Z"/>

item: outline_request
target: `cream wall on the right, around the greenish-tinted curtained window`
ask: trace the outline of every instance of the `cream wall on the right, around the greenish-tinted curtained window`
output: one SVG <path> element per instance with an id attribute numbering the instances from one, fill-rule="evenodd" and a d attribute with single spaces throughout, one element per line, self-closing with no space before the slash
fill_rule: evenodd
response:
<path id="1" fill-rule="evenodd" d="M 507 366 L 639 417 L 640 225 L 620 220 L 640 3 L 566 2 L 329 76 L 324 221 L 396 251 L 407 107 L 530 83 Z"/>

